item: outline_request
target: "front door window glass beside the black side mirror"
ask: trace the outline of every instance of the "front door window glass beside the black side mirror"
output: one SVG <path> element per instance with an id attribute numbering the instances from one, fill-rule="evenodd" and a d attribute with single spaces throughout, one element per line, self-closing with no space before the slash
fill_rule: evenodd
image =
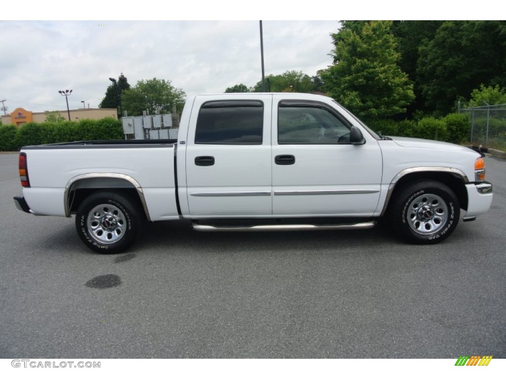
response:
<path id="1" fill-rule="evenodd" d="M 325 107 L 281 102 L 278 108 L 279 145 L 349 143 L 349 127 Z"/>

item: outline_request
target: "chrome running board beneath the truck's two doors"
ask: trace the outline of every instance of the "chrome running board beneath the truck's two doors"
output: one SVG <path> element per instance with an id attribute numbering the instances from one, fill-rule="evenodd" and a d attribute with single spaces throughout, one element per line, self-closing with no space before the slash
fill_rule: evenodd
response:
<path id="1" fill-rule="evenodd" d="M 193 229 L 198 231 L 301 231 L 301 230 L 350 230 L 370 229 L 376 226 L 376 221 L 345 223 L 345 224 L 286 224 L 286 225 L 251 225 L 251 226 L 215 226 L 192 223 Z"/>

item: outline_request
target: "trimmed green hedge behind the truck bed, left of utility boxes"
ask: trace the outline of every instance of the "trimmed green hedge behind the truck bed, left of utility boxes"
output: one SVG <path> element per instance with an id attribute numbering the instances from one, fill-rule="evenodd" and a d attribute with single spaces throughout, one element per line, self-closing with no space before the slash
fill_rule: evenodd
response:
<path id="1" fill-rule="evenodd" d="M 29 122 L 20 127 L 0 126 L 0 151 L 17 151 L 29 145 L 123 138 L 121 122 L 112 117 L 100 120 Z"/>

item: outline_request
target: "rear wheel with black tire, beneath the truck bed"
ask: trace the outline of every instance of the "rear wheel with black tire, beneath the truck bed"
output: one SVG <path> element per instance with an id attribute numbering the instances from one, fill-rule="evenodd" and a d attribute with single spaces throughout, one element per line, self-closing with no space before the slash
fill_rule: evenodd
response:
<path id="1" fill-rule="evenodd" d="M 129 197 L 96 192 L 80 204 L 75 215 L 83 243 L 101 254 L 115 254 L 132 246 L 141 231 L 142 213 Z"/>

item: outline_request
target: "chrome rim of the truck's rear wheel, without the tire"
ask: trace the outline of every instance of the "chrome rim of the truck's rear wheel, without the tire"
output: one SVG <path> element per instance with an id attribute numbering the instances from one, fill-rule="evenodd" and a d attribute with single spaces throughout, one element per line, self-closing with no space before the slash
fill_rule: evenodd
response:
<path id="1" fill-rule="evenodd" d="M 123 212 L 111 204 L 97 205 L 88 214 L 88 230 L 101 244 L 113 244 L 121 240 L 125 224 Z"/>

